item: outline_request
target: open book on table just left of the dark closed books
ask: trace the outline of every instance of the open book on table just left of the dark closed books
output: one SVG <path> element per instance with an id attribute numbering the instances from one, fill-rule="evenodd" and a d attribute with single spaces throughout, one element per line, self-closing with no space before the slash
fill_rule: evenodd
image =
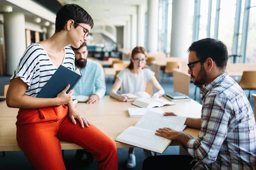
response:
<path id="1" fill-rule="evenodd" d="M 175 105 L 174 102 L 169 102 L 164 99 L 157 98 L 138 98 L 135 99 L 132 105 L 138 106 L 140 108 L 154 108 L 154 107 L 162 107 L 165 105 Z"/>

